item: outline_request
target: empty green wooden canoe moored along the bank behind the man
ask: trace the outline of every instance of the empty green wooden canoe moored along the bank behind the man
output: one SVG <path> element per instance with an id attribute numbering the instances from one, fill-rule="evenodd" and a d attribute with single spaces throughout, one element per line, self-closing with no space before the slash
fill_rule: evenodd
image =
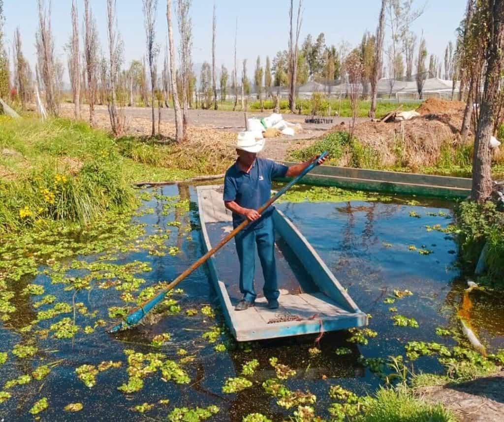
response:
<path id="1" fill-rule="evenodd" d="M 283 164 L 290 166 L 297 163 L 283 162 Z M 288 179 L 277 179 L 279 182 L 286 180 Z M 467 198 L 471 195 L 472 186 L 472 180 L 468 178 L 387 172 L 334 165 L 318 165 L 299 183 L 441 198 Z"/>

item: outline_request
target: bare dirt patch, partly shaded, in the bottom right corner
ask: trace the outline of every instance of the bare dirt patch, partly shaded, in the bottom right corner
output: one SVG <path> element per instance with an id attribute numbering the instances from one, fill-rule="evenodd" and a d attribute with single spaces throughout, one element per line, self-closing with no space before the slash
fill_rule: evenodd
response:
<path id="1" fill-rule="evenodd" d="M 422 387 L 422 397 L 441 402 L 464 422 L 504 420 L 504 372 L 459 384 Z"/>

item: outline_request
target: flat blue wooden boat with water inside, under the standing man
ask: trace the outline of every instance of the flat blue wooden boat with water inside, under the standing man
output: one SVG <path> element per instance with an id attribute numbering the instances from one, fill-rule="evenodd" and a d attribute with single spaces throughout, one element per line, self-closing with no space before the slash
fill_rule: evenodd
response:
<path id="1" fill-rule="evenodd" d="M 222 186 L 199 186 L 198 206 L 205 252 L 232 229 L 231 213 L 222 201 Z M 235 311 L 240 299 L 239 264 L 234 241 L 208 261 L 208 269 L 226 323 L 239 342 L 336 331 L 367 325 L 362 312 L 340 285 L 317 251 L 285 215 L 275 210 L 275 255 L 280 287 L 280 308 L 270 310 L 266 299 Z M 256 291 L 264 283 L 256 260 Z"/>

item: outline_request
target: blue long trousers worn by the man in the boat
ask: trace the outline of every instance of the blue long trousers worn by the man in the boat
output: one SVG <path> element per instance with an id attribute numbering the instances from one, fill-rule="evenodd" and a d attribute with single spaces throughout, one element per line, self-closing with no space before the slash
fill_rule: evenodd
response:
<path id="1" fill-rule="evenodd" d="M 256 245 L 263 267 L 264 296 L 266 299 L 278 299 L 280 292 L 277 285 L 275 264 L 275 227 L 273 218 L 266 217 L 260 228 L 244 230 L 235 236 L 236 251 L 240 261 L 240 292 L 243 299 L 254 302 L 254 276 L 256 274 Z"/>

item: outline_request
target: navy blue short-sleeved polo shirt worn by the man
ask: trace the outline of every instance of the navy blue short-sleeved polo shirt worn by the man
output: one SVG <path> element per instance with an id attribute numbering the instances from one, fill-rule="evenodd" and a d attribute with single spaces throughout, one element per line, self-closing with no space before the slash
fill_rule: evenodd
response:
<path id="1" fill-rule="evenodd" d="M 224 177 L 224 201 L 234 201 L 240 207 L 257 210 L 271 197 L 271 181 L 284 177 L 289 167 L 273 160 L 257 157 L 248 173 L 240 170 L 235 162 L 228 168 Z M 262 213 L 267 218 L 273 212 L 270 206 Z M 233 212 L 233 226 L 239 225 L 246 217 Z M 261 228 L 263 219 L 254 221 L 249 228 Z"/>

